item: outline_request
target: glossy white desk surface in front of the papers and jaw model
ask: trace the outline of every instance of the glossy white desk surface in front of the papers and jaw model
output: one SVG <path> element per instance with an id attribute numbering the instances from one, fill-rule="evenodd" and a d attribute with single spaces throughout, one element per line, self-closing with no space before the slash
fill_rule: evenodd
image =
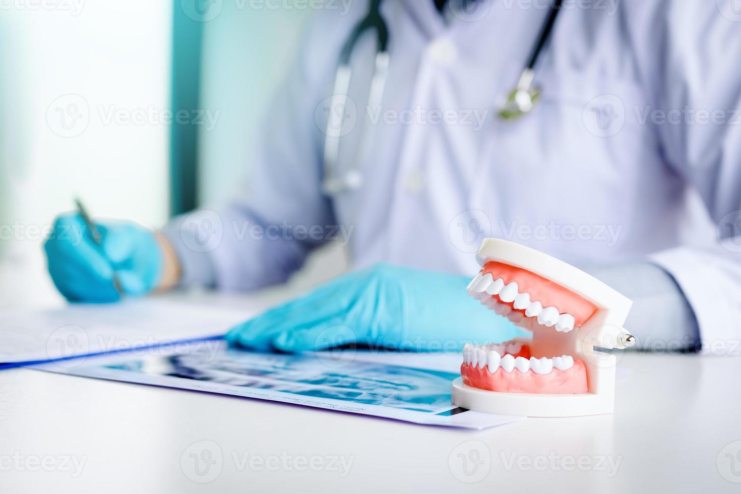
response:
<path id="1" fill-rule="evenodd" d="M 480 432 L 3 370 L 0 491 L 741 492 L 731 482 L 741 482 L 741 358 L 626 353 L 619 369 L 614 415 L 526 418 Z M 213 444 L 199 441 L 222 452 L 205 475 L 194 472 L 190 453 Z M 468 470 L 459 454 L 470 458 Z M 250 468 L 245 455 L 272 466 L 260 470 L 258 460 Z M 294 459 L 332 456 L 352 461 L 345 477 Z M 44 457 L 50 471 L 31 471 L 33 458 Z M 84 461 L 79 475 L 71 459 L 62 466 L 64 457 Z M 619 461 L 617 473 L 608 461 Z M 192 480 L 207 476 L 215 478 Z"/>

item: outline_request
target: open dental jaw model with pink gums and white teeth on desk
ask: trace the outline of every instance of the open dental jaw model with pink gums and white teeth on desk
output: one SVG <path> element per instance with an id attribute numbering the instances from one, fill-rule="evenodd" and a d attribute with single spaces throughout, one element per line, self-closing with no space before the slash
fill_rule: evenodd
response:
<path id="1" fill-rule="evenodd" d="M 576 267 L 513 242 L 486 239 L 468 293 L 532 333 L 463 350 L 453 404 L 531 417 L 612 413 L 617 358 L 635 339 L 631 301 Z"/>

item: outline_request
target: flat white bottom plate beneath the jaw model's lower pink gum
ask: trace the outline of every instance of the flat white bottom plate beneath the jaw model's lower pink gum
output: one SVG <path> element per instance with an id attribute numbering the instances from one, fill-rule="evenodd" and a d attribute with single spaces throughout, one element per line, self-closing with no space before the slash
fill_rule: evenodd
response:
<path id="1" fill-rule="evenodd" d="M 540 395 L 534 393 L 497 393 L 479 390 L 453 381 L 453 404 L 476 412 L 525 417 L 580 417 L 612 413 L 611 397 L 583 393 L 579 395 Z"/>

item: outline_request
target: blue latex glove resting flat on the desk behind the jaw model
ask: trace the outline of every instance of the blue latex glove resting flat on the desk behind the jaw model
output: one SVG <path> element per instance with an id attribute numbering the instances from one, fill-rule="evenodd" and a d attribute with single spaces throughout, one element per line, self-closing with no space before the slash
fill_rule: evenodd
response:
<path id="1" fill-rule="evenodd" d="M 234 327 L 230 344 L 298 352 L 357 343 L 371 348 L 457 351 L 521 336 L 466 293 L 471 277 L 377 264 Z"/>

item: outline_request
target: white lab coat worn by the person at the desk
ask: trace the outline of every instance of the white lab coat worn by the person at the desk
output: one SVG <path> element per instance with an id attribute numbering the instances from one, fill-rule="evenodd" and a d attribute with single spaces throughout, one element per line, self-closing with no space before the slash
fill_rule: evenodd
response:
<path id="1" fill-rule="evenodd" d="M 322 243 L 303 233 L 315 225 L 351 231 L 356 267 L 387 261 L 468 275 L 480 241 L 493 236 L 579 266 L 654 261 L 682 288 L 703 341 L 737 341 L 741 15 L 731 20 L 731 1 L 725 16 L 706 0 L 565 2 L 536 69 L 536 110 L 502 121 L 497 108 L 546 2 L 482 0 L 444 19 L 430 0 L 385 0 L 382 118 L 359 164 L 362 187 L 333 198 L 321 193 L 325 108 L 339 50 L 367 2 L 347 16 L 322 10 L 276 93 L 244 195 L 166 230 L 184 281 L 225 290 L 283 281 Z M 342 169 L 356 160 L 368 119 L 374 47 L 368 37 L 353 52 Z M 207 244 L 192 238 L 203 218 L 215 233 Z"/>

